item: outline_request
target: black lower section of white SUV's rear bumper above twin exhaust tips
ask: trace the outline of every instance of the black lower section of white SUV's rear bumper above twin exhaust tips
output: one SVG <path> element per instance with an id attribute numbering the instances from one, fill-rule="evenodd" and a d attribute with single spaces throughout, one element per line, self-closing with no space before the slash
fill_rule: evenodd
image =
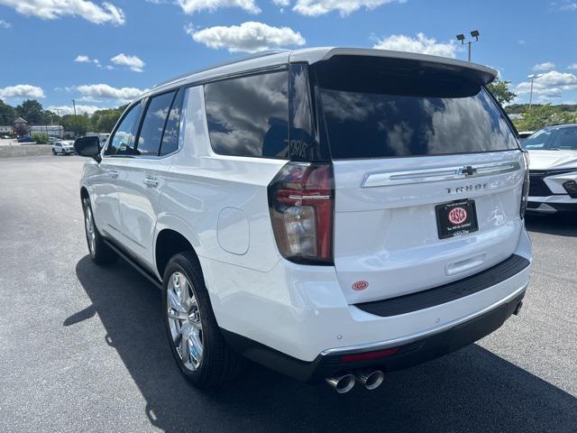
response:
<path id="1" fill-rule="evenodd" d="M 498 305 L 491 306 L 490 309 L 483 310 L 472 318 L 465 318 L 450 326 L 436 329 L 426 336 L 409 336 L 403 340 L 382 342 L 371 347 L 328 349 L 312 362 L 298 360 L 226 330 L 223 330 L 223 333 L 227 343 L 241 355 L 300 381 L 318 382 L 334 373 L 368 366 L 393 372 L 450 354 L 489 335 L 520 308 L 526 289 L 527 286 L 517 290 L 507 299 L 502 299 Z M 389 349 L 390 355 L 370 361 L 343 362 L 343 357 L 347 355 L 384 349 Z"/>

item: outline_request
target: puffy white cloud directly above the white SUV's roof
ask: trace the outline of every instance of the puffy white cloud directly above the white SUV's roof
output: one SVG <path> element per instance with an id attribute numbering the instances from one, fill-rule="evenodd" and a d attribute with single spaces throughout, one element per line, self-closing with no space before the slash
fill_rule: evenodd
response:
<path id="1" fill-rule="evenodd" d="M 272 27 L 264 23 L 247 22 L 241 25 L 217 25 L 202 30 L 188 26 L 185 31 L 194 41 L 209 48 L 225 48 L 231 52 L 256 52 L 284 45 L 304 45 L 307 41 L 289 27 Z"/>

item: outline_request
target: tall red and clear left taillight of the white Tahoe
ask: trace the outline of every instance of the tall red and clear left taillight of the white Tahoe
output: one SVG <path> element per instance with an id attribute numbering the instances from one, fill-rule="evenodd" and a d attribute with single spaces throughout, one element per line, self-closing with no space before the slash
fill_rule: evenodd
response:
<path id="1" fill-rule="evenodd" d="M 269 185 L 279 252 L 296 263 L 333 263 L 333 165 L 289 162 Z"/>

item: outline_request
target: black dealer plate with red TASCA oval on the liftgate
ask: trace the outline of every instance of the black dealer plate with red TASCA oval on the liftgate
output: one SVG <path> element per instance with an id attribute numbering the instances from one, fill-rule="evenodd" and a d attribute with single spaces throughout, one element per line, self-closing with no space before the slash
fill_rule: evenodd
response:
<path id="1" fill-rule="evenodd" d="M 435 206 L 439 239 L 467 235 L 479 230 L 475 200 L 463 199 Z"/>

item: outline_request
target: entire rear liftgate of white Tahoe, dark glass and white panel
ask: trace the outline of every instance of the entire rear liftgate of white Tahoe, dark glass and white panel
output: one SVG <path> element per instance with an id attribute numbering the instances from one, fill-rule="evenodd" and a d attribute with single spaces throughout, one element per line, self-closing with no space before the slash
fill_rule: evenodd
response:
<path id="1" fill-rule="evenodd" d="M 316 70 L 347 299 L 426 290 L 508 258 L 523 226 L 524 161 L 492 97 L 466 70 L 362 67 Z"/>

